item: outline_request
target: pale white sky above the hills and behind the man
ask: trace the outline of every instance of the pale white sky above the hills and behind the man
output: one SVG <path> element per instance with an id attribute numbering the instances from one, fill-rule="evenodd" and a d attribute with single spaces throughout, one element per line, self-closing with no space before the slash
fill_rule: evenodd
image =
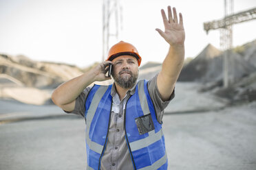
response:
<path id="1" fill-rule="evenodd" d="M 220 48 L 220 30 L 207 35 L 203 23 L 222 19 L 224 0 L 120 0 L 124 40 L 138 49 L 142 65 L 162 62 L 169 45 L 156 32 L 164 29 L 160 10 L 182 12 L 186 57 L 211 43 Z M 0 0 L 0 53 L 32 60 L 88 66 L 103 56 L 103 0 Z M 234 12 L 256 7 L 255 0 L 234 0 Z M 233 25 L 233 46 L 256 39 L 256 20 Z"/>

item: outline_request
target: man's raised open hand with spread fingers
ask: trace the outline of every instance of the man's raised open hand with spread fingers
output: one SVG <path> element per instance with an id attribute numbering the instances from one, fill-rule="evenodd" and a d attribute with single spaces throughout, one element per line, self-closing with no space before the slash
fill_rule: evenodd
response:
<path id="1" fill-rule="evenodd" d="M 168 6 L 168 19 L 164 12 L 161 10 L 162 20 L 164 22 L 164 32 L 161 29 L 156 29 L 156 31 L 166 40 L 169 45 L 184 45 L 185 32 L 183 27 L 182 14 L 180 13 L 180 21 L 178 22 L 178 16 L 176 9 L 173 8 L 173 14 L 171 12 L 171 6 Z"/>

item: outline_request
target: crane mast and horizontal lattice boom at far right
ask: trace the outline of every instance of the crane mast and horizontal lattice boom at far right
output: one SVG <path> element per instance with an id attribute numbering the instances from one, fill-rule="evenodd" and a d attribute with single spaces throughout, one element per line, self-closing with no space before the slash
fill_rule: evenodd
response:
<path id="1" fill-rule="evenodd" d="M 228 57 L 228 55 L 229 49 L 233 47 L 232 26 L 253 19 L 256 19 L 256 8 L 233 14 L 233 0 L 224 0 L 224 19 L 204 23 L 206 34 L 211 29 L 220 29 L 220 48 L 225 51 L 223 62 L 223 84 L 225 88 L 228 87 L 230 82 L 228 63 L 230 63 L 229 60 L 232 60 L 232 58 Z"/>

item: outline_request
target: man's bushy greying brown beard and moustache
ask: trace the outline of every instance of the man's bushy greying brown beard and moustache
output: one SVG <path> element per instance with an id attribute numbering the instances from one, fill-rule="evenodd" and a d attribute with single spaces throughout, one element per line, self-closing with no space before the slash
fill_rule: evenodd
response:
<path id="1" fill-rule="evenodd" d="M 129 75 L 122 76 L 122 73 L 127 72 Z M 138 71 L 137 73 L 132 73 L 128 69 L 122 69 L 119 73 L 113 75 L 115 82 L 122 88 L 131 88 L 136 84 L 136 80 L 138 79 Z"/>

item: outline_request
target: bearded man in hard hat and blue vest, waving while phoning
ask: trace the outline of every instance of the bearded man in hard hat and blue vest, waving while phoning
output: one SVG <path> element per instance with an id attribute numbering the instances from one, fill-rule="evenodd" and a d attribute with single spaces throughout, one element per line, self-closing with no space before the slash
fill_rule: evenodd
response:
<path id="1" fill-rule="evenodd" d="M 168 18 L 161 10 L 165 31 L 156 31 L 169 43 L 162 69 L 149 82 L 138 78 L 141 57 L 137 49 L 118 42 L 94 69 L 76 77 L 52 94 L 54 104 L 86 121 L 87 169 L 167 169 L 162 134 L 163 110 L 174 97 L 174 86 L 184 62 L 184 27 L 175 8 Z M 111 79 L 114 84 L 94 85 Z"/>

